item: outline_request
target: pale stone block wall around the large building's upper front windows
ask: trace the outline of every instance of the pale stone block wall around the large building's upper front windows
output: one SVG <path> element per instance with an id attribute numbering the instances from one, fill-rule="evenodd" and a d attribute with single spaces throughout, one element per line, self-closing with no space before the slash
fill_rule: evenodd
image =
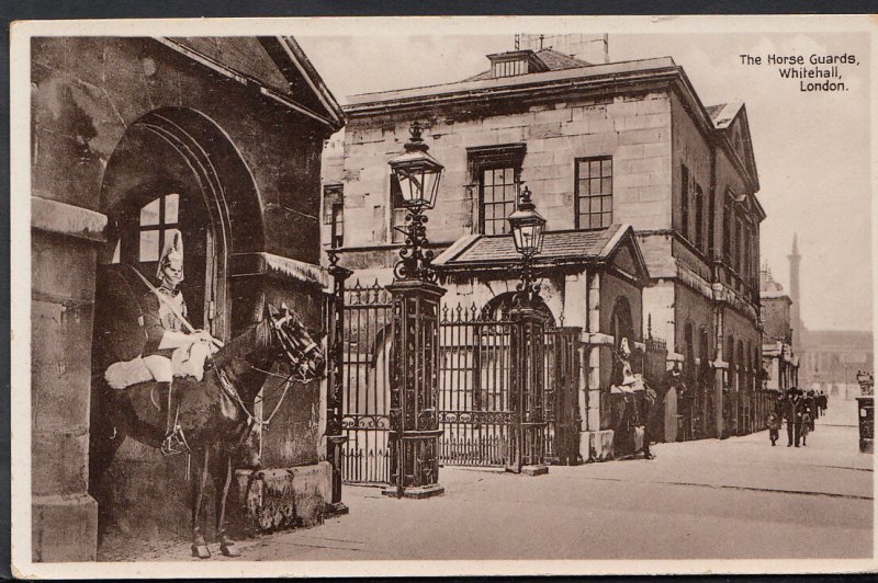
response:
<path id="1" fill-rule="evenodd" d="M 353 118 L 345 130 L 345 247 L 390 241 L 387 161 L 403 151 L 412 123 L 394 115 Z M 424 119 L 421 119 L 424 122 Z M 488 115 L 463 116 L 441 111 L 430 116 L 424 137 L 446 170 L 429 238 L 448 244 L 473 231 L 477 188 L 466 148 L 525 142 L 522 180 L 534 195 L 549 229 L 574 227 L 575 160 L 612 156 L 614 221 L 638 229 L 671 225 L 671 108 L 665 93 L 619 95 L 609 100 L 573 100 L 530 105 Z M 325 161 L 338 163 L 338 147 L 327 144 Z M 337 180 L 329 171 L 324 181 Z M 328 236 L 328 224 L 325 225 Z"/>

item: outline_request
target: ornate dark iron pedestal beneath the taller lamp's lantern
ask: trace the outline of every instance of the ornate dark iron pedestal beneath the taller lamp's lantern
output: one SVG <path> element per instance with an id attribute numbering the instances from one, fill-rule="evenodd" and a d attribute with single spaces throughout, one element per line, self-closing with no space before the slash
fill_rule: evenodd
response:
<path id="1" fill-rule="evenodd" d="M 439 300 L 446 290 L 420 279 L 387 286 L 393 296 L 391 485 L 383 494 L 428 498 L 439 485 Z"/>

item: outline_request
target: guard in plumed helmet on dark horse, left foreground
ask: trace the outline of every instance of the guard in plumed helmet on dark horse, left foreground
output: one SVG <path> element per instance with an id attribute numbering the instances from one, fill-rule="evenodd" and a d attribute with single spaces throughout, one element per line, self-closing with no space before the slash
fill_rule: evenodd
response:
<path id="1" fill-rule="evenodd" d="M 250 325 L 225 345 L 195 330 L 187 321 L 185 301 L 178 289 L 183 279 L 179 235 L 162 250 L 156 276 L 158 287 L 134 266 L 112 264 L 99 277 L 90 488 L 92 492 L 101 488 L 102 477 L 127 437 L 166 455 L 188 453 L 187 475 L 191 465 L 196 476 L 189 484 L 192 555 L 211 557 L 204 522 L 206 488 L 213 482 L 219 551 L 236 557 L 225 512 L 233 455 L 251 431 L 269 426 L 291 387 L 322 377 L 326 363 L 319 339 L 315 341 L 285 305 L 277 309 L 264 301 L 261 313 L 255 313 Z M 263 391 L 272 377 L 280 386 Z M 157 388 L 170 392 L 167 411 L 156 402 Z"/>

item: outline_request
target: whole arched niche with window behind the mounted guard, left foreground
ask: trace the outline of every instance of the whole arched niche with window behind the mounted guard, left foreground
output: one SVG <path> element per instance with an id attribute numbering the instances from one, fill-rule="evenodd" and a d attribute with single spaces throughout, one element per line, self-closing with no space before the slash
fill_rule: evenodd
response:
<path id="1" fill-rule="evenodd" d="M 184 239 L 182 292 L 189 318 L 227 340 L 261 312 L 262 296 L 236 289 L 230 281 L 234 253 L 264 249 L 263 206 L 250 170 L 235 145 L 212 119 L 193 110 L 167 107 L 131 124 L 108 161 L 101 212 L 108 217 L 108 243 L 99 252 L 92 369 L 109 364 L 103 338 L 104 275 L 127 263 L 157 283 L 162 239 L 179 230 Z M 144 286 L 144 292 L 147 288 Z M 100 401 L 92 398 L 92 439 L 102 438 Z M 185 460 L 162 458 L 128 439 L 104 476 L 92 475 L 89 490 L 98 500 L 103 525 L 123 533 L 157 537 L 168 527 L 188 529 L 183 491 Z"/>

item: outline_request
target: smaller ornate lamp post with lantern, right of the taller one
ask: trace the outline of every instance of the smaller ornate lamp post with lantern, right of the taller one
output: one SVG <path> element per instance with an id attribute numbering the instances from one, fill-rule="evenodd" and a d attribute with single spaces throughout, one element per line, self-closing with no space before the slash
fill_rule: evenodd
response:
<path id="1" fill-rule="evenodd" d="M 534 274 L 534 256 L 542 251 L 545 219 L 537 213 L 530 190 L 525 186 L 518 208 L 508 217 L 515 248 L 521 255 L 521 281 L 516 286 L 509 310 L 511 333 L 510 408 L 514 424 L 506 470 L 539 476 L 549 469 L 543 465 L 545 408 L 543 351 L 545 316 L 537 307 L 542 301 Z"/>

